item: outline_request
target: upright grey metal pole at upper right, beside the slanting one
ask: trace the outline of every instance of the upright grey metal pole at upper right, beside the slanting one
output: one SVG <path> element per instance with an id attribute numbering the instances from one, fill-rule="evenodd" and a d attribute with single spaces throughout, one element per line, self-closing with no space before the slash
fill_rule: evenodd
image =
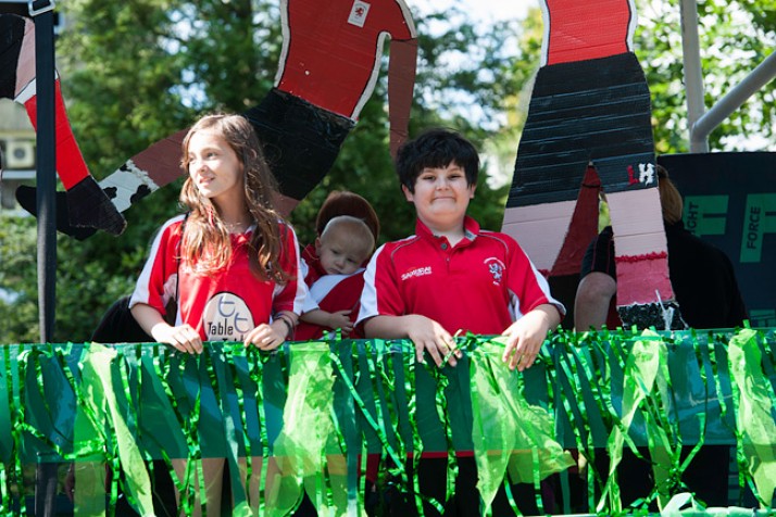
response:
<path id="1" fill-rule="evenodd" d="M 698 5 L 696 0 L 681 0 L 681 54 L 685 63 L 685 88 L 687 89 L 687 127 L 690 152 L 709 152 L 709 142 L 696 142 L 692 127 L 703 116 L 703 71 L 701 70 L 700 39 L 698 37 Z"/>

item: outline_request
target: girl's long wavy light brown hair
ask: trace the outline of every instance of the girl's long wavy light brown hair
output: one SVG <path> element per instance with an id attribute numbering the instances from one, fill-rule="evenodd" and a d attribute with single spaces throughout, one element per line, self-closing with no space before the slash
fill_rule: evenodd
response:
<path id="1" fill-rule="evenodd" d="M 277 182 L 264 160 L 259 138 L 251 124 L 240 115 L 206 115 L 189 129 L 183 142 L 180 165 L 187 174 L 180 189 L 180 203 L 190 213 L 180 243 L 180 257 L 199 274 L 213 275 L 231 260 L 229 229 L 210 199 L 200 194 L 189 172 L 189 142 L 201 130 L 211 131 L 235 151 L 242 164 L 242 188 L 246 211 L 255 230 L 248 242 L 248 256 L 253 275 L 262 280 L 283 282 L 289 275 L 280 266 L 283 217 L 275 211 L 273 199 Z"/>

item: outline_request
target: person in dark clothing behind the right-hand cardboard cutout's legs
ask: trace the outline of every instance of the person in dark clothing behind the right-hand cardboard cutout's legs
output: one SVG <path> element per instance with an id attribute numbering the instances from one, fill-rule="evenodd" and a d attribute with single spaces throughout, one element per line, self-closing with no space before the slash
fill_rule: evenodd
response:
<path id="1" fill-rule="evenodd" d="M 747 307 L 738 289 L 733 264 L 719 249 L 702 241 L 685 229 L 681 222 L 681 194 L 658 165 L 658 178 L 663 223 L 668 249 L 668 274 L 681 316 L 692 328 L 733 328 L 747 319 Z M 612 227 L 605 227 L 588 247 L 580 270 L 574 319 L 577 330 L 622 326 L 614 310 L 617 285 Z M 692 446 L 683 447 L 684 457 Z M 704 445 L 683 475 L 683 481 L 697 499 L 710 506 L 728 506 L 728 445 Z M 640 450 L 649 457 L 647 449 Z M 603 454 L 597 456 L 604 456 Z M 606 465 L 597 465 L 605 472 Z M 619 478 L 624 504 L 649 494 L 653 486 L 648 462 L 637 459 L 629 450 L 623 451 Z"/>

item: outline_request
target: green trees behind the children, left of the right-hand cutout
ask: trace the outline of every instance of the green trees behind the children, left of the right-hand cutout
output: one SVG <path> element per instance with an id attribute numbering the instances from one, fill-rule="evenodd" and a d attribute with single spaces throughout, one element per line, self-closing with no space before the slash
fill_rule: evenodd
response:
<path id="1" fill-rule="evenodd" d="M 98 179 L 201 114 L 241 112 L 258 104 L 273 85 L 281 48 L 276 1 L 74 0 L 65 2 L 63 9 L 71 23 L 58 43 L 63 90 L 82 151 Z M 459 12 L 459 16 L 463 15 Z M 418 33 L 426 34 L 426 24 L 435 20 L 443 16 L 416 20 Z M 445 125 L 461 130 L 477 144 L 486 140 L 489 131 L 456 114 L 455 106 L 446 100 L 459 92 L 485 112 L 499 110 L 498 98 L 486 93 L 477 73 L 491 67 L 496 54 L 476 60 L 466 56 L 483 38 L 488 41 L 486 48 L 498 49 L 502 36 L 476 35 L 470 23 L 462 23 L 448 24 L 438 40 L 421 37 L 418 85 L 424 86 L 418 87 L 413 106 L 413 134 Z M 455 56 L 466 58 L 465 65 L 455 64 Z M 446 64 L 447 59 L 453 64 Z M 375 94 L 334 169 L 291 216 L 302 243 L 314 238 L 317 206 L 333 189 L 353 190 L 373 202 L 383 217 L 384 241 L 414 229 L 413 213 L 393 177 L 388 153 L 387 63 L 383 66 Z M 508 84 L 510 67 L 501 66 L 497 72 L 489 81 Z M 170 185 L 125 212 L 128 227 L 118 238 L 102 232 L 82 242 L 59 237 L 54 340 L 87 340 L 110 303 L 130 292 L 155 229 L 179 211 L 179 181 Z M 477 194 L 475 216 L 498 228 L 503 189 L 492 191 L 484 176 Z M 4 223 L 14 228 L 14 240 L 26 243 L 21 254 L 32 257 L 35 225 L 30 219 L 23 220 L 18 226 L 14 226 L 18 220 Z M 16 232 L 24 234 L 25 239 L 16 239 Z M 10 263 L 3 262 L 3 269 L 5 264 Z M 34 262 L 27 258 L 25 266 L 12 282 L 20 294 L 9 307 L 10 321 L 14 326 L 18 321 L 13 340 L 36 341 Z"/>

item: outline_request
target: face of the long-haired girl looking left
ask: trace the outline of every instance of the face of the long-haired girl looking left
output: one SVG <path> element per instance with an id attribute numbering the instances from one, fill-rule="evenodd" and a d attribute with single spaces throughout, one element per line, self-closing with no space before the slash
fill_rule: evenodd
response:
<path id="1" fill-rule="evenodd" d="M 222 137 L 208 130 L 189 139 L 188 168 L 199 193 L 216 206 L 242 206 L 242 163 Z"/>

